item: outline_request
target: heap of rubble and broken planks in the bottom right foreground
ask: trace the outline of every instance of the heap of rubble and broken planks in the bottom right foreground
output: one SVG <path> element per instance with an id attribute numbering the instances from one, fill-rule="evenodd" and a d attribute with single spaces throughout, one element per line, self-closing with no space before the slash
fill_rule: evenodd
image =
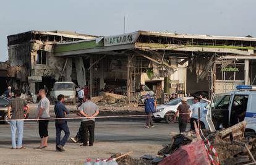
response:
<path id="1" fill-rule="evenodd" d="M 228 129 L 217 132 L 202 130 L 201 137 L 205 145 L 209 146 L 210 156 L 215 164 L 246 164 L 255 162 L 256 158 L 256 136 L 245 133 L 247 122 L 243 121 Z M 197 138 L 192 132 L 179 134 L 171 139 L 171 143 L 165 145 L 158 151 L 161 156 L 171 156 L 184 145 L 190 145 Z M 215 152 L 212 150 L 215 149 Z M 205 148 L 204 148 L 205 149 Z M 208 155 L 209 156 L 209 155 Z M 210 158 L 210 157 L 209 157 Z M 210 159 L 211 161 L 211 159 Z M 213 163 L 212 163 L 213 164 Z M 255 162 L 256 164 L 256 162 Z"/>

